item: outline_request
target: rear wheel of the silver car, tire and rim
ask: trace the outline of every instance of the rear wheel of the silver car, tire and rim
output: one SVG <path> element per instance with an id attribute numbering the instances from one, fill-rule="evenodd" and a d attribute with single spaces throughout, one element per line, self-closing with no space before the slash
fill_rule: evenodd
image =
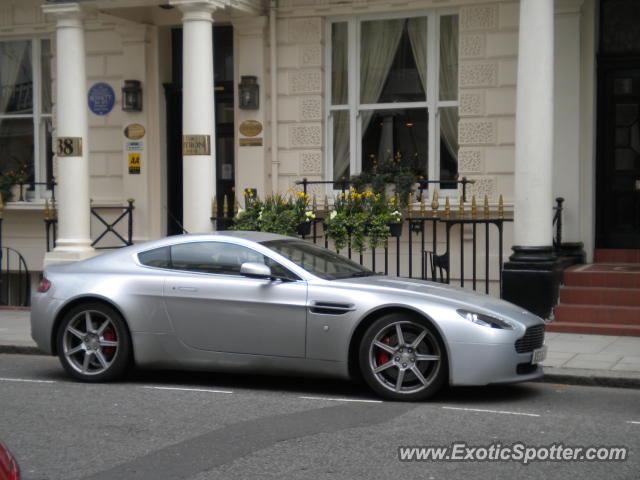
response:
<path id="1" fill-rule="evenodd" d="M 85 382 L 115 380 L 131 360 L 124 319 L 102 303 L 86 303 L 67 312 L 58 328 L 57 347 L 65 370 Z"/>

